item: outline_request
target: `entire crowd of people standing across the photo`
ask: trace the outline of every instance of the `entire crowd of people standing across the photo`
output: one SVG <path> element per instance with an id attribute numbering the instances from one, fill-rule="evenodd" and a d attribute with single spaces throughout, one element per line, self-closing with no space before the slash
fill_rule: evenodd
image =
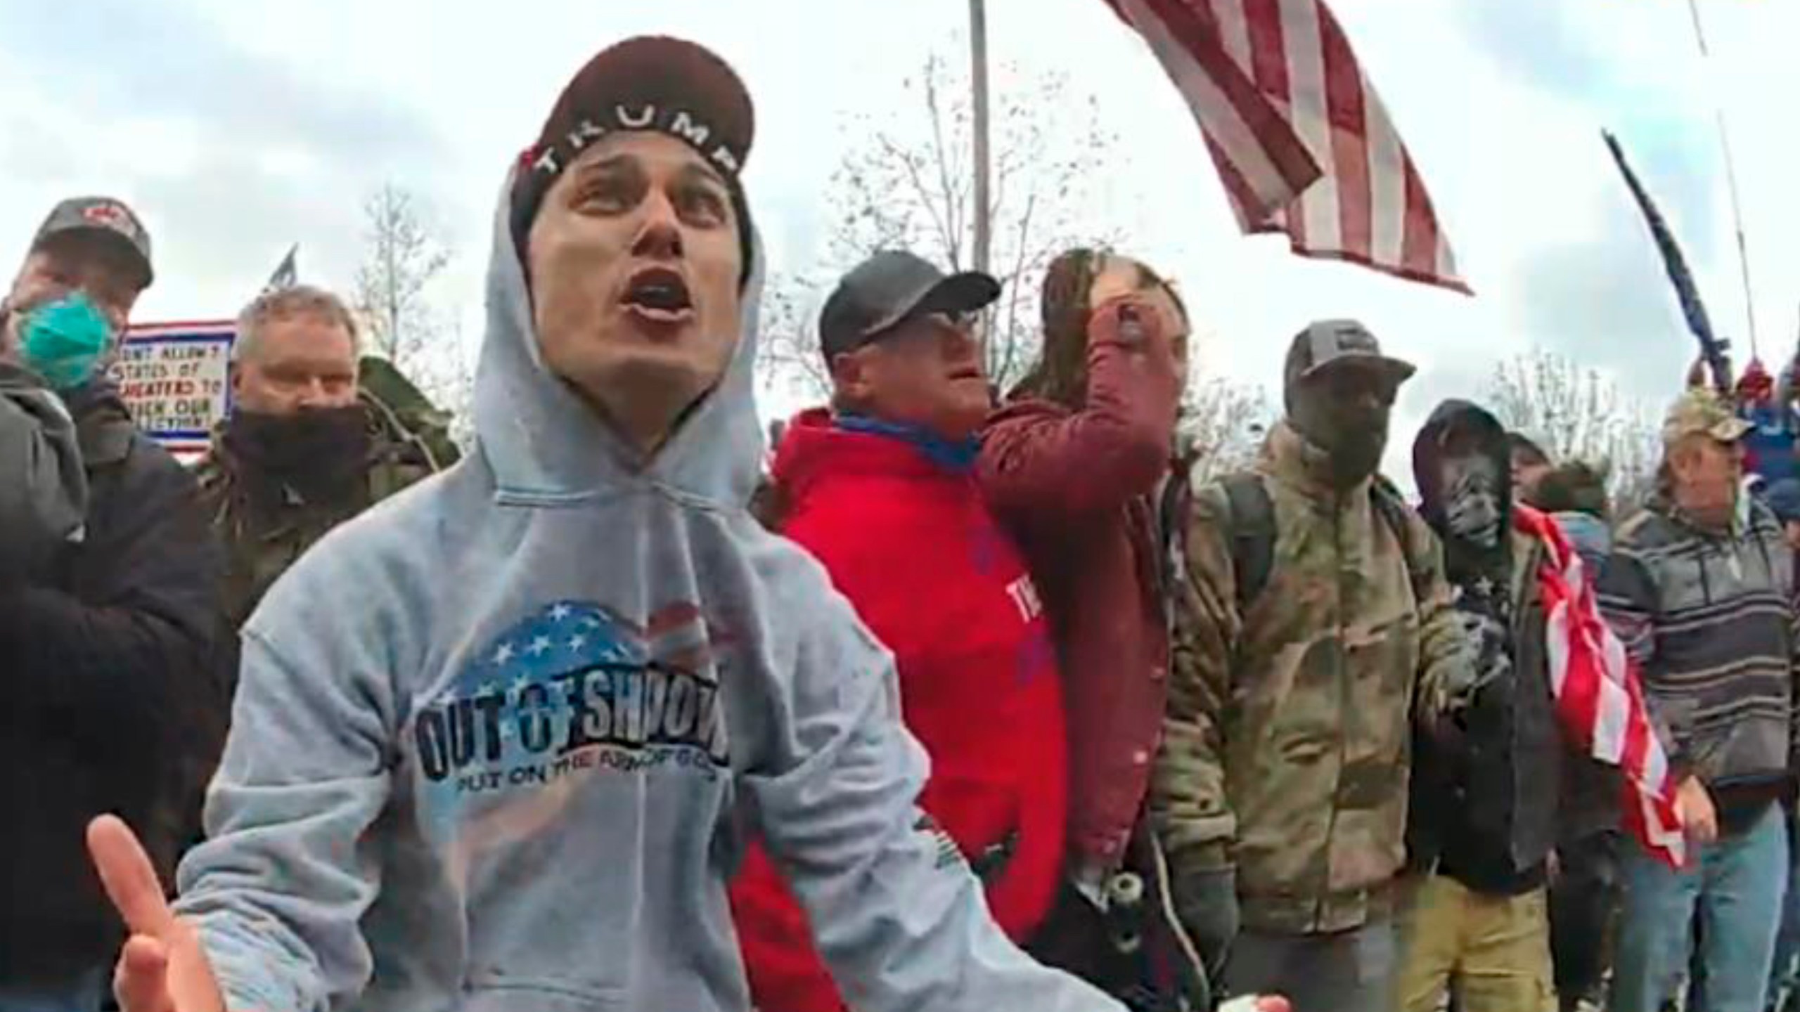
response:
<path id="1" fill-rule="evenodd" d="M 1413 367 L 1318 321 L 1201 479 L 1170 279 L 1064 252 L 995 391 L 1001 285 L 884 250 L 763 468 L 752 137 L 693 43 L 569 81 L 466 456 L 290 286 L 184 468 L 106 376 L 144 225 L 49 214 L 0 306 L 0 1012 L 1780 1008 L 1786 389 L 1679 393 L 1629 508 L 1445 400 L 1409 501 Z"/>

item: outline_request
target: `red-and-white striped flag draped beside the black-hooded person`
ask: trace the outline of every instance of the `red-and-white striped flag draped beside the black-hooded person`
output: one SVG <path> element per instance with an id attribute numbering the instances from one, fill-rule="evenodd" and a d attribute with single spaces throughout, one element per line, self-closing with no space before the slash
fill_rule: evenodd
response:
<path id="1" fill-rule="evenodd" d="M 1555 520 L 1521 506 L 1514 526 L 1544 546 L 1537 587 L 1550 616 L 1550 690 L 1562 729 L 1577 747 L 1620 769 L 1627 782 L 1625 827 L 1645 850 L 1679 868 L 1685 841 L 1674 776 L 1651 727 L 1638 670 L 1600 618 L 1593 582 Z"/>

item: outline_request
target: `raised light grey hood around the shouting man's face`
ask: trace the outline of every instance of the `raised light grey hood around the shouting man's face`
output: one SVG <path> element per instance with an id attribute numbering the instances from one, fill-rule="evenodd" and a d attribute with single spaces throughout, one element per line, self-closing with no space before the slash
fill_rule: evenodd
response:
<path id="1" fill-rule="evenodd" d="M 499 499 L 551 504 L 657 488 L 722 506 L 749 502 L 763 452 L 752 376 L 763 256 L 754 230 L 731 364 L 644 459 L 544 364 L 526 270 L 511 238 L 511 191 L 508 176 L 493 218 L 488 333 L 475 371 L 475 436 Z"/>

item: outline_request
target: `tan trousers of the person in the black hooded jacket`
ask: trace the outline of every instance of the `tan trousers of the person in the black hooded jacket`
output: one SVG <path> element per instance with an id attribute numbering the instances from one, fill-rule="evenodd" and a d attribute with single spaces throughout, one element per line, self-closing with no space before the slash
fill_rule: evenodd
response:
<path id="1" fill-rule="evenodd" d="M 1489 897 L 1431 875 L 1406 886 L 1400 909 L 1400 1012 L 1553 1012 L 1544 890 Z"/>

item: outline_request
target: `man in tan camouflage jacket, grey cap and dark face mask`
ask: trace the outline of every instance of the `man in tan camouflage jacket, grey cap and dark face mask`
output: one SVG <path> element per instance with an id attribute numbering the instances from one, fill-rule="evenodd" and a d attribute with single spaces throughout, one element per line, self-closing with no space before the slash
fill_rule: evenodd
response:
<path id="1" fill-rule="evenodd" d="M 1296 1012 L 1390 1008 L 1415 706 L 1472 686 L 1431 531 L 1377 475 L 1411 373 L 1357 322 L 1309 326 L 1262 463 L 1181 522 L 1152 814 L 1224 989 Z"/>

